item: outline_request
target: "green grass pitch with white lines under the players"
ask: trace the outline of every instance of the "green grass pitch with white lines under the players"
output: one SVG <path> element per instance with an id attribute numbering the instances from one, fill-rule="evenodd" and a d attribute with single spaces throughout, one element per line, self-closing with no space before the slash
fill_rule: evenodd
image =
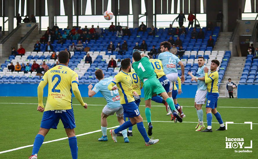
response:
<path id="1" fill-rule="evenodd" d="M 103 98 L 83 98 L 89 104 L 88 109 L 83 109 L 79 102 L 73 98 L 73 109 L 77 127 L 75 133 L 83 134 L 100 130 L 100 114 L 106 101 Z M 140 105 L 144 105 L 141 99 Z M 46 98 L 43 99 L 46 103 Z M 212 124 L 212 133 L 195 132 L 198 121 L 196 110 L 193 107 L 194 99 L 178 99 L 183 107 L 186 118 L 185 123 L 162 122 L 170 121 L 166 115 L 165 107 L 152 102 L 153 136 L 160 141 L 156 145 L 145 146 L 144 140 L 133 127 L 133 136 L 129 137 L 130 143 L 124 143 L 122 137 L 114 143 L 108 130 L 108 141 L 99 142 L 101 132 L 95 132 L 78 136 L 78 158 L 257 158 L 258 156 L 258 125 L 253 124 L 230 124 L 226 131 L 215 131 L 219 128 L 218 123 Z M 18 104 L 19 103 L 19 104 Z M 37 112 L 37 97 L 0 97 L 0 152 L 32 145 L 38 133 L 42 113 Z M 252 121 L 258 123 L 258 100 L 257 99 L 219 99 L 217 110 L 224 121 L 244 123 Z M 94 106 L 101 105 L 101 106 Z M 191 106 L 191 107 L 190 107 Z M 226 107 L 226 108 L 220 108 Z M 255 108 L 230 108 L 230 107 L 255 107 Z M 144 106 L 140 106 L 141 116 L 145 121 Z M 206 121 L 205 108 L 204 121 Z M 212 116 L 212 122 L 217 122 Z M 116 116 L 108 117 L 108 127 L 117 126 Z M 161 122 L 155 122 L 161 121 Z M 187 123 L 189 122 L 189 123 Z M 147 130 L 147 122 L 144 122 Z M 207 123 L 205 123 L 207 126 Z M 44 141 L 66 137 L 61 121 L 57 130 L 51 129 Z M 250 146 L 252 140 L 252 153 L 236 153 L 239 148 L 226 149 L 225 137 L 244 138 L 244 146 Z M 11 152 L 0 153 L 0 158 L 27 158 L 31 155 L 32 147 L 27 147 Z M 60 140 L 46 143 L 41 146 L 38 158 L 71 158 L 68 140 Z"/>

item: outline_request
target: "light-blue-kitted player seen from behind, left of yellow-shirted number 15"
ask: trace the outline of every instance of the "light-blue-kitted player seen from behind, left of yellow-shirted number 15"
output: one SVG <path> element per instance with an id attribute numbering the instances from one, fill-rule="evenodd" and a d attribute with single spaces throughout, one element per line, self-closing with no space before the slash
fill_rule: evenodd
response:
<path id="1" fill-rule="evenodd" d="M 107 105 L 103 108 L 101 112 L 101 131 L 102 136 L 99 138 L 99 141 L 107 141 L 107 117 L 110 115 L 114 115 L 116 113 L 117 120 L 120 125 L 124 123 L 123 120 L 123 107 L 120 104 L 120 95 L 118 93 L 118 90 L 108 90 L 108 85 L 110 82 L 112 82 L 113 77 L 104 77 L 103 71 L 101 69 L 97 69 L 95 71 L 96 78 L 99 80 L 97 84 L 95 84 L 94 88 L 92 89 L 92 85 L 90 84 L 88 86 L 89 91 L 88 95 L 89 97 L 93 97 L 95 94 L 100 92 L 103 97 L 107 101 Z M 125 143 L 129 143 L 129 139 L 127 137 L 127 130 L 123 130 L 122 136 Z"/>

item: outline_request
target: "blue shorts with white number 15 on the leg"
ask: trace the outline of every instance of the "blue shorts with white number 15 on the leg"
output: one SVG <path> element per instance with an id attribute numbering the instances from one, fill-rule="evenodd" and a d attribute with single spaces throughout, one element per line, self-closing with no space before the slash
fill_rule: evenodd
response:
<path id="1" fill-rule="evenodd" d="M 137 117 L 140 115 L 139 108 L 135 101 L 130 103 L 121 104 L 123 107 L 123 116 L 128 118 Z"/>

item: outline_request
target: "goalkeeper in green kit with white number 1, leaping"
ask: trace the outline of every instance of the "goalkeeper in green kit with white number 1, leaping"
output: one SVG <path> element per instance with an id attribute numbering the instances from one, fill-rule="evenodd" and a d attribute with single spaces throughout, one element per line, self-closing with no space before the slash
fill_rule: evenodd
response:
<path id="1" fill-rule="evenodd" d="M 177 114 L 174 101 L 168 97 L 166 90 L 163 88 L 154 69 L 149 61 L 149 57 L 144 53 L 140 53 L 134 49 L 132 54 L 132 68 L 135 70 L 138 77 L 143 82 L 144 99 L 145 99 L 145 115 L 148 122 L 148 135 L 152 135 L 152 123 L 151 123 L 151 98 L 152 96 L 160 95 L 168 103 L 172 110 L 173 116 L 177 118 L 179 122 L 182 122 L 182 118 Z"/>

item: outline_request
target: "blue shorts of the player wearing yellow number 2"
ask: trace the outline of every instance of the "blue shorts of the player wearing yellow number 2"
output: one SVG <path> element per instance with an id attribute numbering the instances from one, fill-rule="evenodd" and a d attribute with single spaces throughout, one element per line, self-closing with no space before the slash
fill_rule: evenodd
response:
<path id="1" fill-rule="evenodd" d="M 57 129 L 60 119 L 63 123 L 63 128 L 74 129 L 76 127 L 73 109 L 45 111 L 43 113 L 40 127 L 44 129 Z"/>

